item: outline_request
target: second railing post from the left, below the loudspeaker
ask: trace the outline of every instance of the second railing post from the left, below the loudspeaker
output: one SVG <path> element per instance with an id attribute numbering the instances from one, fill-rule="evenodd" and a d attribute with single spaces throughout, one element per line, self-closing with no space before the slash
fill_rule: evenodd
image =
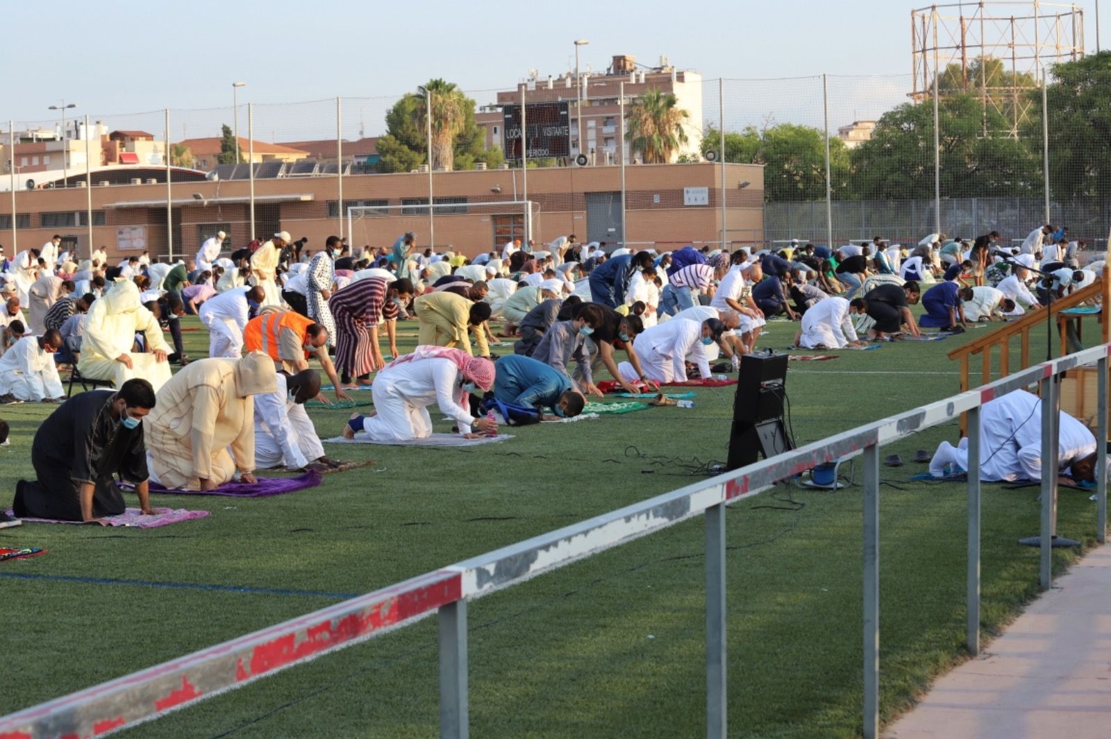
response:
<path id="1" fill-rule="evenodd" d="M 725 504 L 705 509 L 705 736 L 724 739 L 725 697 Z"/>

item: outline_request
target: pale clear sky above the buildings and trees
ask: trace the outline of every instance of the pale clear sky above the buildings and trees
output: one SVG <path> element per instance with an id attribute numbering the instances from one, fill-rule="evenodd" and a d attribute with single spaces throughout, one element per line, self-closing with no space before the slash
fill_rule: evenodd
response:
<path id="1" fill-rule="evenodd" d="M 887 82 L 839 81 L 830 121 L 837 125 L 905 100 L 910 10 L 925 4 L 923 0 L 10 2 L 4 3 L 3 24 L 14 32 L 3 41 L 9 73 L 0 87 L 6 92 L 0 121 L 14 119 L 17 126 L 49 122 L 56 113 L 47 108 L 60 99 L 79 103 L 73 113 L 97 118 L 166 107 L 230 110 L 231 82 L 242 80 L 247 87 L 239 91 L 240 103 L 380 97 L 381 101 L 344 108 L 344 136 L 357 135 L 360 119 L 370 135 L 381 131 L 382 113 L 393 98 L 431 78 L 442 77 L 470 92 L 506 89 L 530 69 L 558 75 L 573 68 L 572 41 L 585 38 L 590 44 L 582 50 L 582 68 L 589 64 L 599 72 L 613 54 L 629 53 L 652 65 L 665 54 L 679 69 L 698 70 L 705 79 L 822 72 L 898 75 Z M 1087 45 L 1094 50 L 1094 0 L 1079 4 L 1087 11 Z M 1111 4 L 1107 10 L 1111 12 Z M 750 123 L 762 117 L 814 123 L 820 90 L 820 81 L 815 87 L 812 80 L 768 83 L 758 93 L 734 85 L 727 108 L 735 104 L 738 110 L 729 122 Z M 489 95 L 471 97 L 480 104 L 490 101 Z M 741 111 L 742 97 L 760 100 L 748 101 Z M 799 107 L 805 109 L 801 114 Z M 297 118 L 314 119 L 300 126 L 306 138 L 329 135 L 323 103 L 288 110 L 267 105 L 262 118 L 267 114 L 270 122 L 260 124 L 256 113 L 256 138 L 269 139 L 274 128 L 281 129 L 273 131 L 279 138 L 296 138 Z M 230 112 L 221 110 L 182 113 L 171 129 L 174 138 L 216 135 L 218 130 L 208 129 L 227 119 Z M 124 128 L 122 120 L 110 124 Z M 137 117 L 134 125 L 150 130 L 158 120 Z M 243 112 L 239 125 L 246 135 Z"/>

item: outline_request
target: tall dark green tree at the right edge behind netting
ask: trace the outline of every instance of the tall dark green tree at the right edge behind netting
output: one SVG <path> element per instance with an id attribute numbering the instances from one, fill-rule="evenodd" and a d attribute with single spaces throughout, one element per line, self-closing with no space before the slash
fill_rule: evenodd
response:
<path id="1" fill-rule="evenodd" d="M 1053 67 L 1049 103 L 1050 192 L 1054 198 L 1111 194 L 1111 51 Z M 1041 155 L 1041 95 L 1032 95 L 1028 141 Z"/>

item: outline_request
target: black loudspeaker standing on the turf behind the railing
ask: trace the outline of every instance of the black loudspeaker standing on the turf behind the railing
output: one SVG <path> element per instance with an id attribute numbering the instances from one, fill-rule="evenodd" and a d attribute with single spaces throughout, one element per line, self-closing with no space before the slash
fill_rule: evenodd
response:
<path id="1" fill-rule="evenodd" d="M 787 397 L 787 354 L 745 354 L 733 398 L 728 469 L 794 448 L 783 425 Z"/>

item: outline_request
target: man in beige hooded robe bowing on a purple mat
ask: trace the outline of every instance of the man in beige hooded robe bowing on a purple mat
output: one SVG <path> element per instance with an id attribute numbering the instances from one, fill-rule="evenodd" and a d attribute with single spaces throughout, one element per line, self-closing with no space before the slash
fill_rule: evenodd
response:
<path id="1" fill-rule="evenodd" d="M 261 352 L 183 368 L 148 418 L 151 479 L 178 490 L 211 490 L 237 475 L 254 483 L 253 396 L 276 387 L 273 362 Z"/>

